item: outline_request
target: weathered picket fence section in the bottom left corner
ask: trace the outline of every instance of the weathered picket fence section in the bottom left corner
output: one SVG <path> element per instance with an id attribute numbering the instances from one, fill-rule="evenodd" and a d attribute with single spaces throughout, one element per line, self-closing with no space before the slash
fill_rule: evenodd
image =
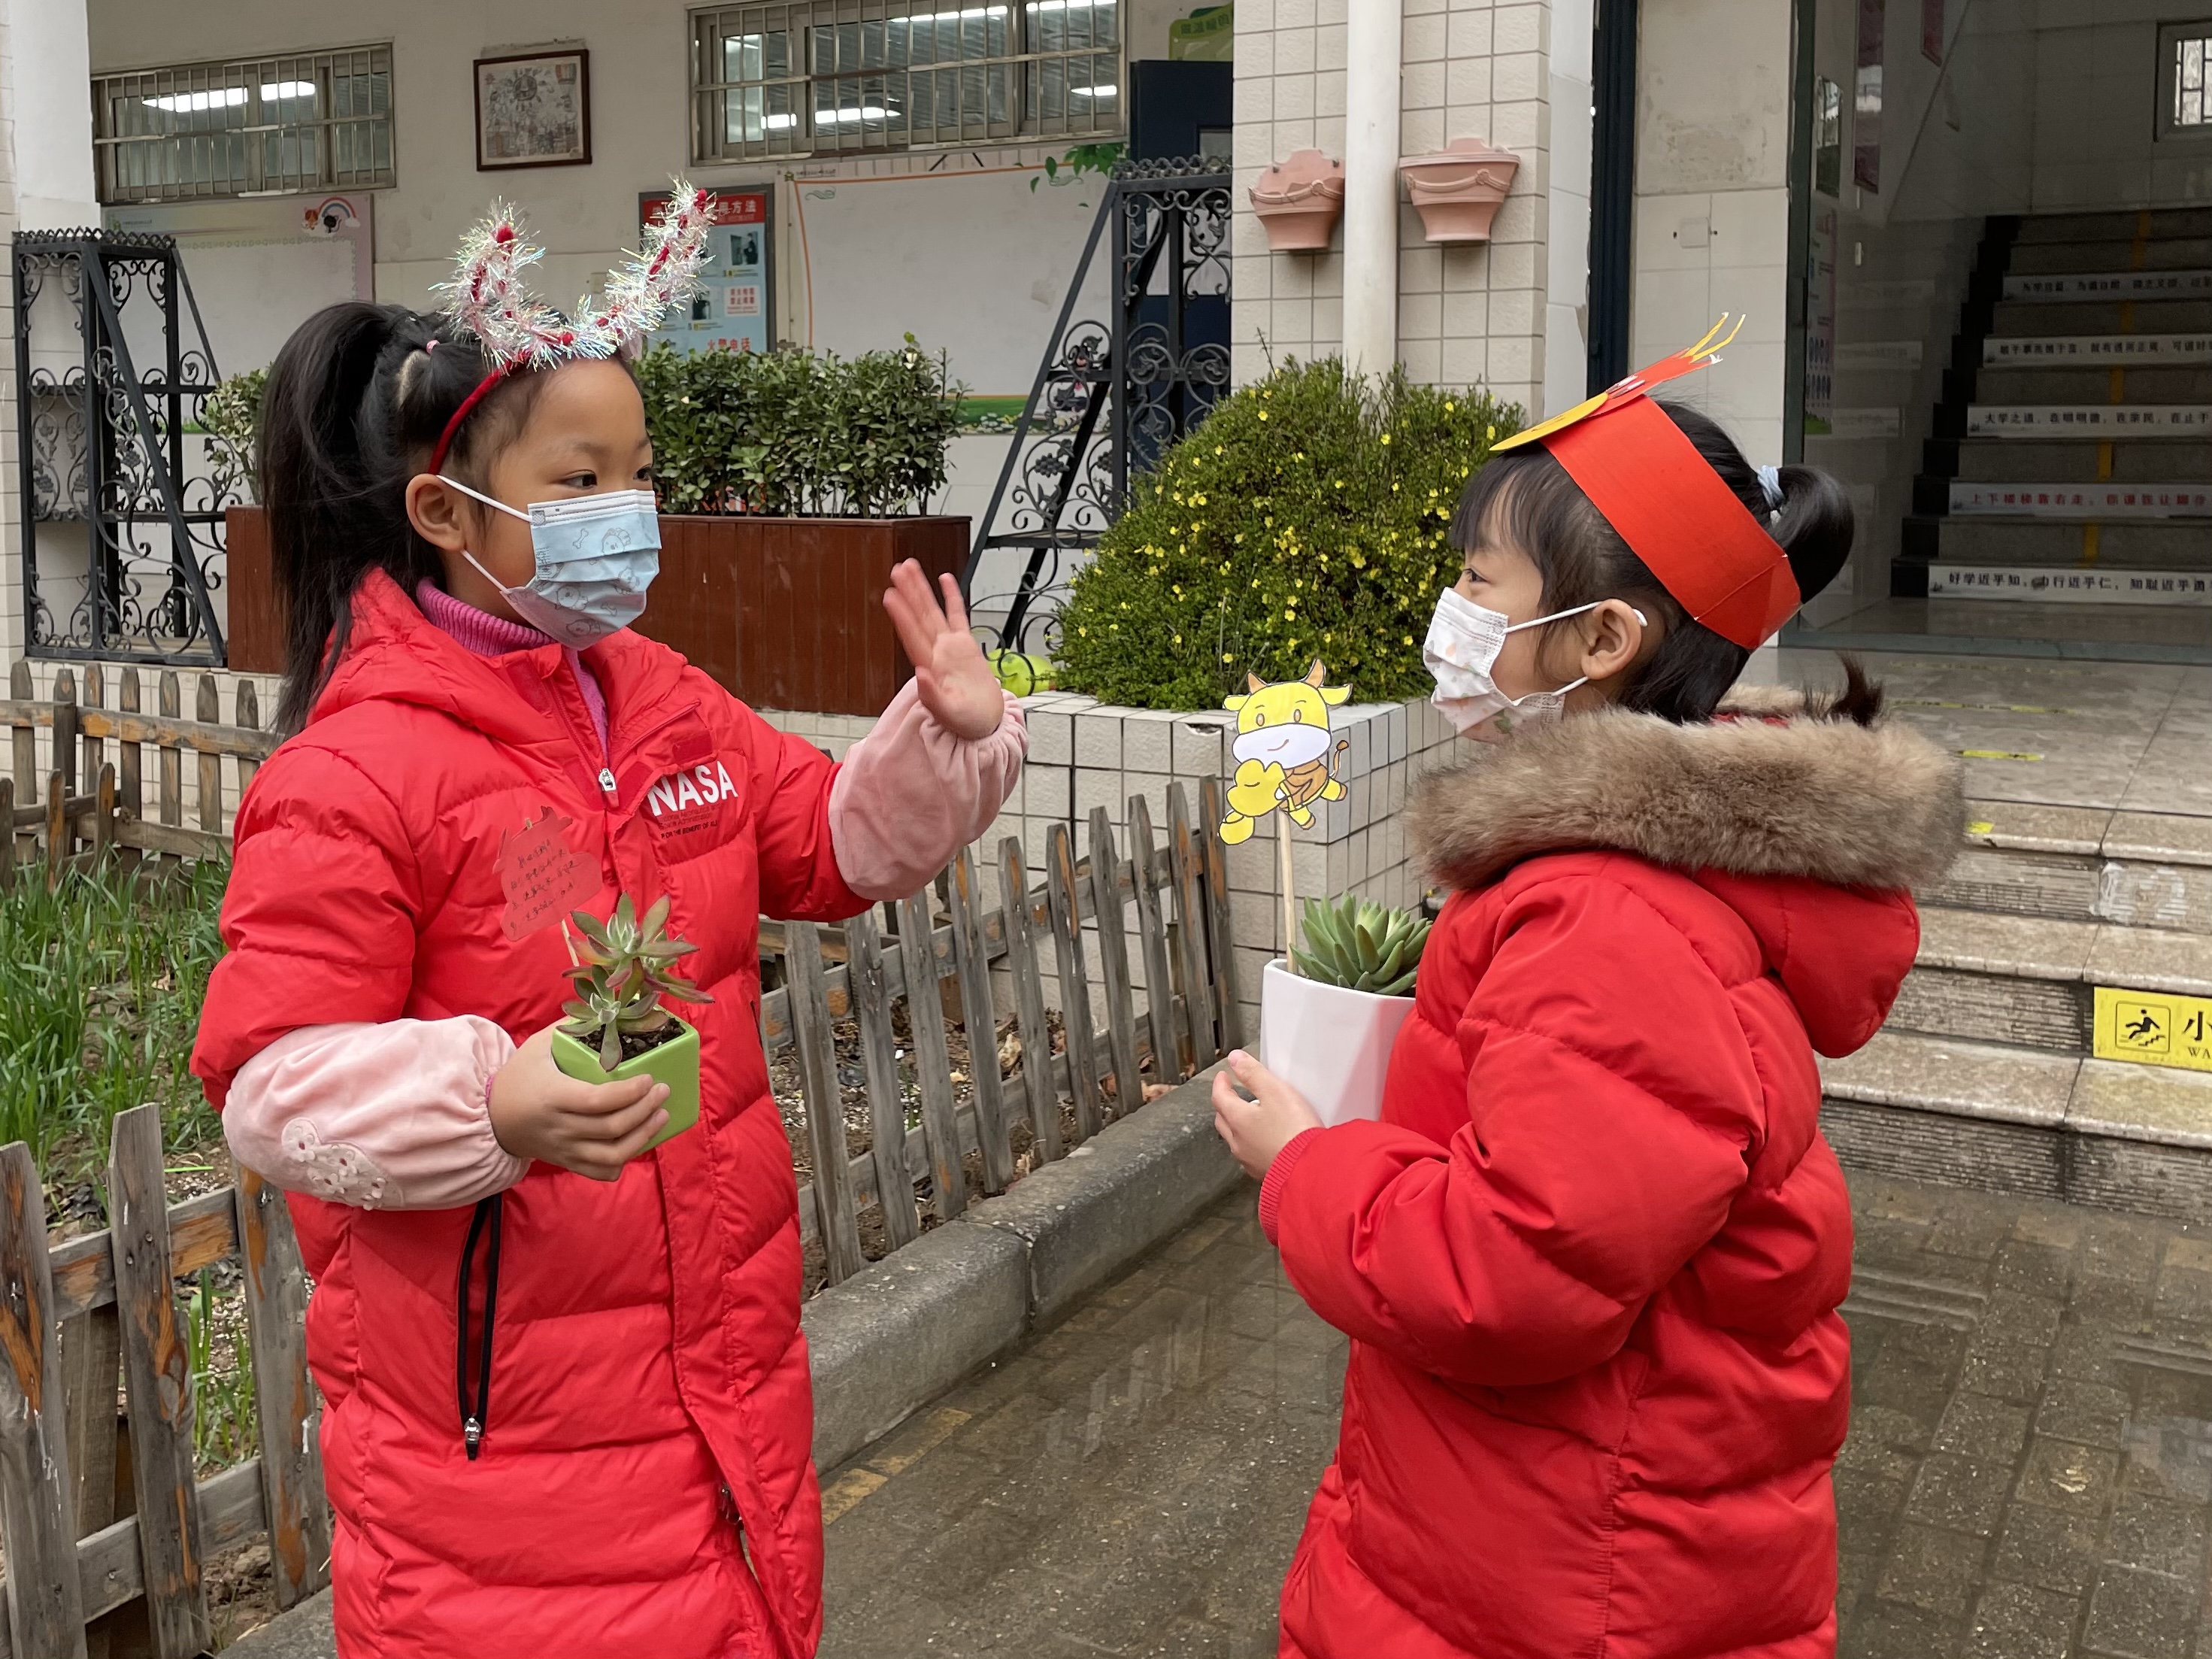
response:
<path id="1" fill-rule="evenodd" d="M 259 1537 L 279 1606 L 330 1577 L 307 1279 L 283 1194 L 248 1172 L 164 1203 L 161 1124 L 137 1106 L 115 1117 L 108 1217 L 111 1230 L 49 1248 L 31 1152 L 0 1148 L 0 1652 L 18 1659 L 206 1652 L 206 1562 Z M 230 1256 L 243 1265 L 261 1451 L 195 1480 L 177 1276 Z"/>

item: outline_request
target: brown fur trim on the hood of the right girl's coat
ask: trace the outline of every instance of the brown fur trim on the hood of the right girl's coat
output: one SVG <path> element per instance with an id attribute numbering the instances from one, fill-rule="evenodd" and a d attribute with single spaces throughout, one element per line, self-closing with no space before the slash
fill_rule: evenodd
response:
<path id="1" fill-rule="evenodd" d="M 1710 726 L 1599 710 L 1480 745 L 1416 785 L 1407 836 L 1460 889 L 1573 849 L 1916 887 L 1951 865 L 1964 821 L 1958 761 L 1918 732 L 1812 717 L 1798 692 L 1756 690 Z"/>

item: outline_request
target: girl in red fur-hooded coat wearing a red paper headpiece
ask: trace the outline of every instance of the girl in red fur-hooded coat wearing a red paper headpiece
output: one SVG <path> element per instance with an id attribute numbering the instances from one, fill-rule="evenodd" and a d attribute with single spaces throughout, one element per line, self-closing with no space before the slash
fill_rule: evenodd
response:
<path id="1" fill-rule="evenodd" d="M 1955 763 L 1856 666 L 1730 686 L 1840 568 L 1843 489 L 1646 396 L 1500 445 L 1427 657 L 1502 739 L 1429 776 L 1453 889 L 1380 1121 L 1245 1055 L 1217 1121 L 1312 1307 L 1343 1438 L 1283 1586 L 1305 1659 L 1814 1659 L 1836 1646 L 1851 1206 L 1814 1053 L 1874 1035 Z"/>

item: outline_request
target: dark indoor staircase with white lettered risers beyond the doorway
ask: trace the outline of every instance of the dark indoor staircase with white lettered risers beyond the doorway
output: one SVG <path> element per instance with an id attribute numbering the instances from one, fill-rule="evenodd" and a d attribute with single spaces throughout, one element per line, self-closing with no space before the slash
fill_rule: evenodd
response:
<path id="1" fill-rule="evenodd" d="M 1891 593 L 2212 606 L 2212 208 L 1989 221 Z"/>

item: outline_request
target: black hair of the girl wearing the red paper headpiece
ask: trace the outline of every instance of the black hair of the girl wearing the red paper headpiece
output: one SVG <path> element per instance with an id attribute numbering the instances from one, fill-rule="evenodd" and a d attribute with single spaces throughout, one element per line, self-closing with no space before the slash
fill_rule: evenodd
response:
<path id="1" fill-rule="evenodd" d="M 1721 482 L 1767 526 L 1790 557 L 1798 595 L 1812 599 L 1836 580 L 1851 557 L 1851 498 L 1843 484 L 1814 467 L 1781 467 L 1781 504 L 1767 498 L 1759 469 L 1743 458 L 1717 420 L 1672 403 L 1659 403 L 1668 418 L 1705 458 Z M 1712 719 L 1730 686 L 1743 675 L 1752 653 L 1690 622 L 1659 577 L 1619 538 L 1590 498 L 1582 493 L 1548 451 L 1517 449 L 1498 456 L 1469 480 L 1460 513 L 1451 524 L 1460 549 L 1511 544 L 1544 573 L 1544 611 L 1573 611 L 1599 599 L 1628 599 L 1652 617 L 1659 648 L 1621 690 L 1621 708 L 1659 714 L 1674 723 Z M 1816 714 L 1854 719 L 1860 726 L 1880 712 L 1882 692 L 1849 666 L 1849 695 Z"/>

